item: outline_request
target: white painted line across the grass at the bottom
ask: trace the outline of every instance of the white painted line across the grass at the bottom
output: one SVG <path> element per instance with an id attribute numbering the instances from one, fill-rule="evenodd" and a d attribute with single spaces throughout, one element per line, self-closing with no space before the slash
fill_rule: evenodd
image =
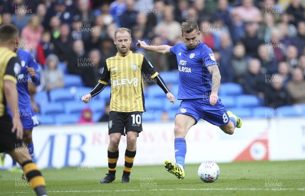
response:
<path id="1" fill-rule="evenodd" d="M 177 188 L 177 189 L 131 189 L 131 190 L 51 190 L 50 192 L 128 192 L 128 191 L 173 191 L 173 190 L 271 190 L 271 191 L 286 191 L 298 190 L 305 191 L 305 188 Z M 0 194 L 18 194 L 31 192 L 0 192 Z"/>

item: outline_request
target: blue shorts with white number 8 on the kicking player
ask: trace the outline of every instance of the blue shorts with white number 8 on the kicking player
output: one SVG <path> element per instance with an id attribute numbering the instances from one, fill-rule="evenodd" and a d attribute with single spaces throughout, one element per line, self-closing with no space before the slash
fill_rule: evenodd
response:
<path id="1" fill-rule="evenodd" d="M 192 116 L 196 123 L 202 118 L 216 126 L 226 125 L 230 120 L 220 99 L 215 106 L 210 105 L 209 99 L 182 100 L 177 114 Z"/>

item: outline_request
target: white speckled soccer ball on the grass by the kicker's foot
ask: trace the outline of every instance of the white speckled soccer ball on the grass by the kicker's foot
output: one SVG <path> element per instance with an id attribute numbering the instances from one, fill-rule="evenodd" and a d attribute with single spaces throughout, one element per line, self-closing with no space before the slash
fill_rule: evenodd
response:
<path id="1" fill-rule="evenodd" d="M 198 168 L 198 176 L 205 183 L 211 183 L 218 179 L 220 170 L 213 161 L 205 161 Z"/>

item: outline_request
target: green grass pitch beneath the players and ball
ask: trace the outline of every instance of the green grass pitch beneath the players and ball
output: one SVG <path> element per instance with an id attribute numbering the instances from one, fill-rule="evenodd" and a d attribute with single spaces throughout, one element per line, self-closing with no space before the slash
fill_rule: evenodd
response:
<path id="1" fill-rule="evenodd" d="M 305 195 L 305 160 L 257 161 L 218 164 L 220 177 L 203 183 L 197 165 L 186 165 L 186 177 L 178 180 L 160 166 L 134 166 L 131 183 L 116 179 L 100 184 L 107 168 L 75 167 L 45 169 L 48 195 Z M 0 195 L 35 195 L 21 174 L 0 171 Z"/>

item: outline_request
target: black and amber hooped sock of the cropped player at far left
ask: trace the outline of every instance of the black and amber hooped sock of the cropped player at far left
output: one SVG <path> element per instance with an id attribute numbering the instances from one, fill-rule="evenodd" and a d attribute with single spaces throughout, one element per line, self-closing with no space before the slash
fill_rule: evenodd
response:
<path id="1" fill-rule="evenodd" d="M 37 195 L 46 195 L 46 183 L 36 164 L 32 160 L 27 160 L 21 166 L 29 185 L 34 188 Z"/>

